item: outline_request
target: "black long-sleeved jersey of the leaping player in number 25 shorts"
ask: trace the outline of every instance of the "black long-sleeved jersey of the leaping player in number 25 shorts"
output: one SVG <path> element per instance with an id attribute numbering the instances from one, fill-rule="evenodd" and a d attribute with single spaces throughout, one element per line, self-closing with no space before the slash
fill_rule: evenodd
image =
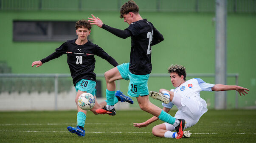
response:
<path id="1" fill-rule="evenodd" d="M 129 71 L 135 75 L 151 73 L 151 46 L 163 41 L 163 35 L 146 19 L 132 22 L 125 30 L 118 30 L 105 24 L 102 28 L 120 38 L 131 37 Z"/>

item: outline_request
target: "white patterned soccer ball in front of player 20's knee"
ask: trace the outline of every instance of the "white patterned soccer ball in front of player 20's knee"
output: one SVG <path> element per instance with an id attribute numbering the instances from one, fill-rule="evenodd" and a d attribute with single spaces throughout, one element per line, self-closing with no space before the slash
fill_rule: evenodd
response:
<path id="1" fill-rule="evenodd" d="M 90 110 L 95 105 L 95 98 L 90 93 L 83 93 L 79 95 L 77 104 L 83 110 Z"/>

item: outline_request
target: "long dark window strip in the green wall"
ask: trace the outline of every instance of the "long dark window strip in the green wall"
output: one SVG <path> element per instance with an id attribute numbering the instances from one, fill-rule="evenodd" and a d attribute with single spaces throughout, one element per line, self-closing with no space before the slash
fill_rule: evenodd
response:
<path id="1" fill-rule="evenodd" d="M 14 41 L 66 41 L 77 38 L 76 22 L 14 21 Z"/>

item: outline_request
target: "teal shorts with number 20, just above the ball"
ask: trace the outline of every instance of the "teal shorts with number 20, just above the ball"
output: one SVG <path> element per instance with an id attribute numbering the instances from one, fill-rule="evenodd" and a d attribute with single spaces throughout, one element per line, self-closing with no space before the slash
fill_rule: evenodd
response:
<path id="1" fill-rule="evenodd" d="M 82 92 L 87 92 L 90 94 L 96 95 L 96 82 L 95 81 L 91 81 L 91 80 L 87 80 L 87 79 L 81 79 L 80 81 L 78 81 L 76 83 L 76 92 L 78 90 L 82 91 Z"/>

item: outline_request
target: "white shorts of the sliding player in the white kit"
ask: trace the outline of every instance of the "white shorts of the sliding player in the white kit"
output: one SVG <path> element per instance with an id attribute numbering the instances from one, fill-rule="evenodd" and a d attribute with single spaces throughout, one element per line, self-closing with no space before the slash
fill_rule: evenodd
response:
<path id="1" fill-rule="evenodd" d="M 185 129 L 192 127 L 197 124 L 200 117 L 208 110 L 205 100 L 201 97 L 183 97 L 178 93 L 174 92 L 175 99 L 180 98 L 181 107 L 176 112 L 174 118 L 185 119 Z M 179 99 L 177 99 L 179 100 Z M 165 123 L 166 130 L 173 131 L 174 127 L 172 124 Z"/>

